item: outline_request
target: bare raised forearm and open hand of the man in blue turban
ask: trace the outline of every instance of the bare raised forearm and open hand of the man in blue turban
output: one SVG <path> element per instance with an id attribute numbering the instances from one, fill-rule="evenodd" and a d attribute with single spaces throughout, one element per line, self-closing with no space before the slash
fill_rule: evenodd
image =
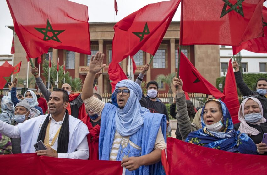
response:
<path id="1" fill-rule="evenodd" d="M 93 55 L 89 64 L 89 71 L 86 75 L 86 78 L 84 80 L 84 85 L 82 89 L 82 100 L 85 100 L 87 98 L 90 98 L 93 96 L 93 86 L 95 79 L 95 74 L 102 70 L 106 66 L 106 64 L 102 64 L 103 58 L 105 54 L 102 54 L 102 52 L 97 52 L 95 56 Z"/>

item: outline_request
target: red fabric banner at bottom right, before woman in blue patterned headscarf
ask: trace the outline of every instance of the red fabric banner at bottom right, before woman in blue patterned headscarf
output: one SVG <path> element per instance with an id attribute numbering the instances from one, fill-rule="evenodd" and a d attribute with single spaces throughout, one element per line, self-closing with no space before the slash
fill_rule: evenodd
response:
<path id="1" fill-rule="evenodd" d="M 170 171 L 166 175 L 251 175 L 266 173 L 267 157 L 206 148 L 168 137 L 167 160 Z"/>

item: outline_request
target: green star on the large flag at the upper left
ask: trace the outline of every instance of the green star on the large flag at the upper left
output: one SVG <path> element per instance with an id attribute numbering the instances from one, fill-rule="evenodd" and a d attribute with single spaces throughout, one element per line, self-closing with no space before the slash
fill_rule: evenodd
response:
<path id="1" fill-rule="evenodd" d="M 46 28 L 35 28 L 38 32 L 44 34 L 44 41 L 48 41 L 48 40 L 54 40 L 57 42 L 61 42 L 57 35 L 59 35 L 60 33 L 64 32 L 65 30 L 53 30 L 49 20 L 47 19 L 47 24 L 46 24 Z M 52 36 L 48 36 L 48 32 L 52 32 L 53 35 Z"/>

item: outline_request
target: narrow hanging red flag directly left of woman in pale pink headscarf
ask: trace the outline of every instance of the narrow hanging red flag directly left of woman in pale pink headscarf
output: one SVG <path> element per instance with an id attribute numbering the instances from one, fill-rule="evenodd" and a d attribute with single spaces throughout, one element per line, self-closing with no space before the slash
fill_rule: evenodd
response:
<path id="1" fill-rule="evenodd" d="M 239 123 L 240 121 L 238 120 L 238 110 L 240 103 L 238 100 L 236 79 L 232 67 L 232 59 L 229 60 L 223 94 L 225 96 L 222 97 L 221 100 L 226 104 L 231 114 L 233 123 Z"/>

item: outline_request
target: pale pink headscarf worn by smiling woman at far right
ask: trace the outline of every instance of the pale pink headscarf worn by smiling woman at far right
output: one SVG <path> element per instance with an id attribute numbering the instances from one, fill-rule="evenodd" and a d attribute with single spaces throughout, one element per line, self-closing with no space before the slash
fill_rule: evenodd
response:
<path id="1" fill-rule="evenodd" d="M 254 124 L 254 125 L 260 125 L 260 123 L 265 123 L 266 122 L 266 119 L 263 117 L 263 109 L 262 109 L 262 105 L 260 103 L 260 101 L 257 99 L 257 98 L 254 98 L 254 97 L 248 97 L 246 99 L 244 99 L 240 105 L 240 108 L 239 108 L 239 111 L 238 111 L 238 119 L 240 121 L 240 126 L 238 128 L 238 130 L 241 132 L 241 133 L 246 133 L 248 135 L 253 135 L 253 136 L 256 136 L 258 135 L 260 132 L 249 126 L 248 123 L 246 122 L 245 120 L 245 115 L 243 114 L 243 111 L 244 111 L 244 107 L 245 107 L 245 103 L 249 100 L 254 100 L 256 103 L 258 103 L 259 105 L 259 109 L 260 109 L 260 113 L 262 115 L 262 118 L 258 121 L 258 122 L 255 122 L 255 123 L 251 123 L 251 124 Z"/>

